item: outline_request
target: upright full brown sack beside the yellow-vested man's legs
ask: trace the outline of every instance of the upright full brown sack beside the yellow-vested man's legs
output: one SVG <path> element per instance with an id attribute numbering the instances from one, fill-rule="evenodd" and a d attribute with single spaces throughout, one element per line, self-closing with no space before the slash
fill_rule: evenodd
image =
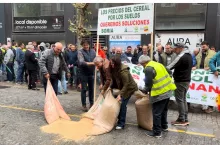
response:
<path id="1" fill-rule="evenodd" d="M 138 99 L 135 102 L 138 125 L 146 130 L 153 128 L 152 106 L 149 102 L 149 96 Z"/>

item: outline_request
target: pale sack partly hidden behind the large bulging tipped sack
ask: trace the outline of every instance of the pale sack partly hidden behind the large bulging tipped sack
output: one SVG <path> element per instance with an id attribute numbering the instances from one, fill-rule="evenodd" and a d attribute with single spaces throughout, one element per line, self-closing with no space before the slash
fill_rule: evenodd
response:
<path id="1" fill-rule="evenodd" d="M 94 105 L 89 109 L 87 113 L 83 114 L 82 116 L 90 119 L 95 119 L 101 110 L 103 102 L 104 97 L 102 94 L 99 94 L 99 97 L 95 101 Z"/>

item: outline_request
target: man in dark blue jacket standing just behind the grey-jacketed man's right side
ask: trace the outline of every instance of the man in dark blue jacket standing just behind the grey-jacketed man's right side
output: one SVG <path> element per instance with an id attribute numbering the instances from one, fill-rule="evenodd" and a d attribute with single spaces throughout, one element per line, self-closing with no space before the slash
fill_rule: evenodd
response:
<path id="1" fill-rule="evenodd" d="M 75 45 L 71 45 L 70 47 L 70 51 L 68 51 L 66 54 L 66 63 L 67 66 L 70 70 L 71 73 L 71 77 L 69 79 L 69 84 L 72 87 L 73 86 L 73 82 L 77 87 L 77 82 L 76 82 L 76 71 L 77 71 L 77 55 L 78 55 L 78 51 L 76 50 L 76 46 Z"/>

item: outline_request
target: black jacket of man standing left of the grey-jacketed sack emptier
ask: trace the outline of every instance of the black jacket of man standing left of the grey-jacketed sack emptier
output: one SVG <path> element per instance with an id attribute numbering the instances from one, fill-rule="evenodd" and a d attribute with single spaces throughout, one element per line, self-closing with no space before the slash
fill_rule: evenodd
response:
<path id="1" fill-rule="evenodd" d="M 38 69 L 38 63 L 37 63 L 36 56 L 30 50 L 27 50 L 25 52 L 25 65 L 27 67 L 27 70 L 37 70 Z"/>

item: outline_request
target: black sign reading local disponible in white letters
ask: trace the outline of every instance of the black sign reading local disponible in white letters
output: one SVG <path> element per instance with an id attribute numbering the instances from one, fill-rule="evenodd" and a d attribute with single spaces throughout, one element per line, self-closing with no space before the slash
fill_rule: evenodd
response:
<path id="1" fill-rule="evenodd" d="M 14 17 L 15 32 L 64 31 L 63 16 Z"/>

